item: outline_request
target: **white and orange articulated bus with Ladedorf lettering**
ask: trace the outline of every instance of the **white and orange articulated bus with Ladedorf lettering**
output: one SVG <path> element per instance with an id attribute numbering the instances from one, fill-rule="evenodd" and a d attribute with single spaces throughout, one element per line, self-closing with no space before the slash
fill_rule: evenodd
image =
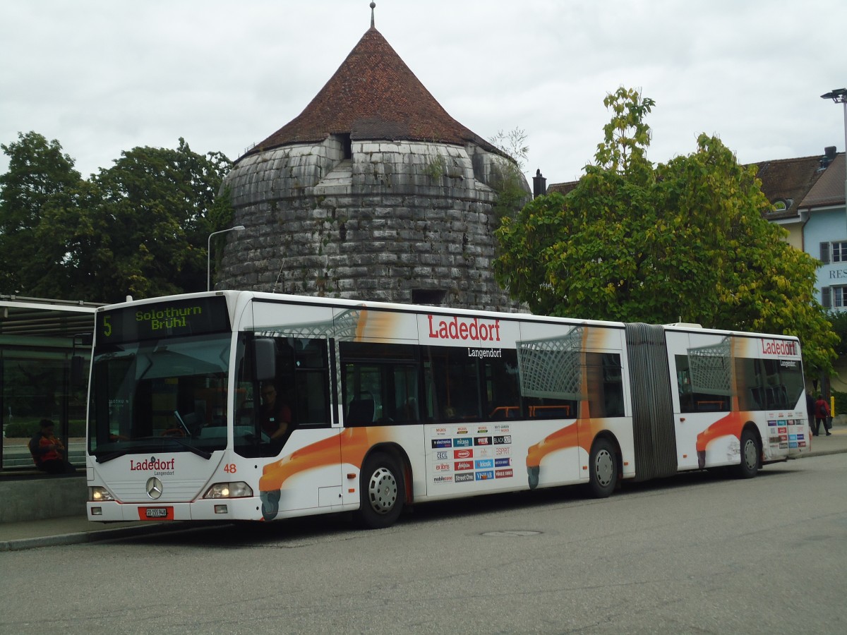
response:
<path id="1" fill-rule="evenodd" d="M 274 386 L 290 422 L 263 422 Z M 273 521 L 811 450 L 794 337 L 214 291 L 97 309 L 91 521 Z M 280 430 L 282 427 L 280 426 Z"/>

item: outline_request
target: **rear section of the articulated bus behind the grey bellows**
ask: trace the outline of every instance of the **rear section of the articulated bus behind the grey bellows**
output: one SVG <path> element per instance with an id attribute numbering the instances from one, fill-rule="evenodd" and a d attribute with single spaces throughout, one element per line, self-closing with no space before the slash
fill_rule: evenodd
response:
<path id="1" fill-rule="evenodd" d="M 761 465 L 811 450 L 795 338 L 669 330 L 679 469 Z"/>

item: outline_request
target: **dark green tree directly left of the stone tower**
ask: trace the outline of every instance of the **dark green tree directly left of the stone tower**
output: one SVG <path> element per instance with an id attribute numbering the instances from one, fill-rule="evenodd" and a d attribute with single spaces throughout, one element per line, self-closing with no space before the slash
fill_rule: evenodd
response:
<path id="1" fill-rule="evenodd" d="M 38 293 L 119 301 L 205 290 L 208 235 L 227 219 L 216 194 L 230 160 L 180 138 L 175 150 L 136 147 L 114 163 L 69 204 L 45 208 L 36 235 L 54 271 Z"/>

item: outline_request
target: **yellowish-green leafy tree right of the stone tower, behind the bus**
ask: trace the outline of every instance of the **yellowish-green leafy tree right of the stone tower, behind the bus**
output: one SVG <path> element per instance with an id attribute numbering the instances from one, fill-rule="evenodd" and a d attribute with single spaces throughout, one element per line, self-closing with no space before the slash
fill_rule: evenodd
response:
<path id="1" fill-rule="evenodd" d="M 654 102 L 621 88 L 604 103 L 612 121 L 573 191 L 503 219 L 501 284 L 533 312 L 798 335 L 806 372 L 831 373 L 837 337 L 814 299 L 817 261 L 762 218 L 753 168 L 707 135 L 654 167 Z"/>

